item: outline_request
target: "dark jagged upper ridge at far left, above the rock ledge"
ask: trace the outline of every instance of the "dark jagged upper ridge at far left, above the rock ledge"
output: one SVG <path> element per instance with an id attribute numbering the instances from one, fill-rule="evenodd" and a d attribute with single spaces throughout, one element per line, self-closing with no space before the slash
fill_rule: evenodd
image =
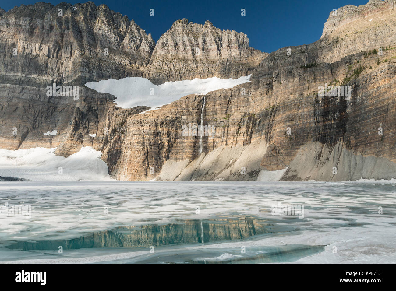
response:
<path id="1" fill-rule="evenodd" d="M 127 16 L 93 2 L 21 5 L 0 19 L 2 83 L 46 87 L 141 76 L 154 41 Z"/>

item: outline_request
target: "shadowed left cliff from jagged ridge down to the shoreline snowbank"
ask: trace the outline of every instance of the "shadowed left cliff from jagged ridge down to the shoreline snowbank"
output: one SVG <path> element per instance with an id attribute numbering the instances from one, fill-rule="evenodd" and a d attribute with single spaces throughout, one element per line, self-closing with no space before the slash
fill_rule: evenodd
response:
<path id="1" fill-rule="evenodd" d="M 101 119 L 112 112 L 114 97 L 83 85 L 89 80 L 141 76 L 153 48 L 150 34 L 128 17 L 93 2 L 74 6 L 39 2 L 4 13 L 1 147 L 58 146 L 57 154 L 68 156 L 91 144 L 88 134 L 97 134 Z M 79 98 L 48 97 L 46 87 L 53 83 L 80 86 Z M 43 135 L 54 129 L 58 135 Z"/>

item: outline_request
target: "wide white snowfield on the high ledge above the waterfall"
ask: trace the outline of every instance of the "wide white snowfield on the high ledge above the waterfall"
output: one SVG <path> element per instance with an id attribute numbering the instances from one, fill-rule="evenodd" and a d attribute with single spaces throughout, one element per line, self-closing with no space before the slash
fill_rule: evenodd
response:
<path id="1" fill-rule="evenodd" d="M 166 82 L 158 86 L 143 77 L 126 77 L 120 80 L 109 79 L 89 82 L 85 86 L 97 92 L 114 95 L 117 97 L 114 102 L 118 107 L 149 106 L 151 107 L 150 110 L 155 110 L 190 94 L 203 95 L 210 91 L 228 89 L 251 82 L 249 81 L 250 76 L 251 74 L 238 79 L 195 78 L 194 80 Z"/>

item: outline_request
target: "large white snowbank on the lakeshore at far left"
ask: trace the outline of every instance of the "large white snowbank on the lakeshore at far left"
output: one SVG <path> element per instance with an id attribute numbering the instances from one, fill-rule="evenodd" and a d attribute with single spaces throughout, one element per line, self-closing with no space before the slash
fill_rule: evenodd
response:
<path id="1" fill-rule="evenodd" d="M 102 152 L 83 146 L 65 158 L 55 156 L 56 148 L 0 149 L 0 176 L 32 181 L 112 180 Z"/>

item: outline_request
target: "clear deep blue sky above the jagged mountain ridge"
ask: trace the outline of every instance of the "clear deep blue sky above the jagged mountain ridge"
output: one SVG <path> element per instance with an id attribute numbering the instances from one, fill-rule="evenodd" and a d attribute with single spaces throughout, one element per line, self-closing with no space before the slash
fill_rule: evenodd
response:
<path id="1" fill-rule="evenodd" d="M 8 11 L 15 5 L 35 2 L 37 1 L 0 0 L 0 7 Z M 56 5 L 61 2 L 66 1 L 53 1 L 51 4 Z M 363 5 L 368 0 L 95 0 L 93 2 L 97 6 L 106 4 L 110 9 L 127 15 L 146 30 L 147 34 L 151 33 L 155 41 L 177 19 L 187 18 L 188 21 L 202 24 L 209 20 L 220 29 L 234 29 L 246 33 L 251 47 L 270 53 L 285 46 L 315 42 L 322 35 L 323 25 L 333 8 L 348 4 Z M 149 15 L 150 8 L 154 9 L 154 17 Z M 242 8 L 246 9 L 246 16 L 241 16 Z"/>

